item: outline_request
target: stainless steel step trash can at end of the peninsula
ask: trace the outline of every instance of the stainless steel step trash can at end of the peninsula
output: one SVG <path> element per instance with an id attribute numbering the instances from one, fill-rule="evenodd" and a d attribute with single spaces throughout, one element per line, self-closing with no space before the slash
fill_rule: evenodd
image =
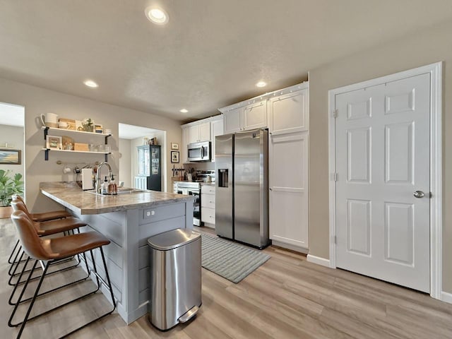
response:
<path id="1" fill-rule="evenodd" d="M 172 230 L 148 239 L 148 319 L 165 331 L 191 319 L 201 307 L 201 234 Z"/>

